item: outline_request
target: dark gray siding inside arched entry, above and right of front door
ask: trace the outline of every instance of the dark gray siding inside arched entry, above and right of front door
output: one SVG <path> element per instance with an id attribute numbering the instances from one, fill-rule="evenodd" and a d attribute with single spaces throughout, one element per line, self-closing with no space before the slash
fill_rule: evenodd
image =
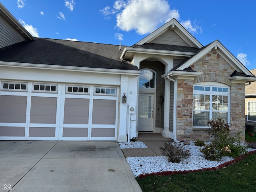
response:
<path id="1" fill-rule="evenodd" d="M 161 94 L 164 95 L 164 89 L 162 88 L 164 84 L 161 75 L 164 74 L 163 72 L 165 71 L 165 65 L 158 61 L 143 61 L 140 63 L 140 69 L 144 68 L 152 69 L 156 72 L 156 112 L 154 113 L 156 117 L 155 126 L 163 128 L 162 121 L 164 119 L 164 103 L 159 102 L 159 97 Z"/>

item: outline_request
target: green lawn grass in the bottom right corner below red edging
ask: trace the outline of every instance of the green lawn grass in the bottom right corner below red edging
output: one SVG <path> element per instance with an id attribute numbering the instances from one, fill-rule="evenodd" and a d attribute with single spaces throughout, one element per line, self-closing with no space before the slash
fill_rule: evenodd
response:
<path id="1" fill-rule="evenodd" d="M 256 154 L 215 171 L 136 178 L 143 192 L 255 192 Z"/>

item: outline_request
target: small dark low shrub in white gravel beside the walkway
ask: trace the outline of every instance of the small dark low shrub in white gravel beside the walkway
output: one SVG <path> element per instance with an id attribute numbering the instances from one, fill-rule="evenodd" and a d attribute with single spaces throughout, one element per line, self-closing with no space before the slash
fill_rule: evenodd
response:
<path id="1" fill-rule="evenodd" d="M 160 147 L 160 150 L 172 163 L 179 163 L 182 159 L 190 156 L 190 151 L 185 150 L 180 143 L 165 142 L 164 147 Z"/>

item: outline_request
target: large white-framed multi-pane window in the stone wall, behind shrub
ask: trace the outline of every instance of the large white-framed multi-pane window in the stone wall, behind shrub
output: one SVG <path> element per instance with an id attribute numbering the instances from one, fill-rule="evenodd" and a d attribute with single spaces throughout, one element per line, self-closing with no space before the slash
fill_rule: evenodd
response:
<path id="1" fill-rule="evenodd" d="M 208 127 L 211 119 L 229 122 L 229 87 L 194 85 L 193 127 Z"/>

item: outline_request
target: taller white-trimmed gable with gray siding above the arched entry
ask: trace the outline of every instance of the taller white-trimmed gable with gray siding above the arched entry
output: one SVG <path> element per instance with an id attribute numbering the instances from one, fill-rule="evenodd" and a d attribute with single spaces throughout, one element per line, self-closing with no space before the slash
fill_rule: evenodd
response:
<path id="1" fill-rule="evenodd" d="M 165 39 L 165 43 L 163 43 L 162 39 Z M 194 48 L 203 47 L 175 18 L 137 42 L 136 45 L 144 43 L 172 44 Z"/>

